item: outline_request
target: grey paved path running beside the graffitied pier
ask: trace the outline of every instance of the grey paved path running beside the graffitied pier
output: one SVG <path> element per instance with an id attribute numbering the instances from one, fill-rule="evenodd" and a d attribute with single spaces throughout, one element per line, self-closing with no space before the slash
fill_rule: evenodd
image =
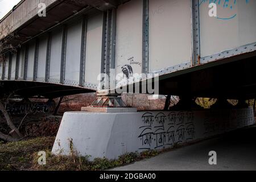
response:
<path id="1" fill-rule="evenodd" d="M 209 165 L 209 151 L 217 152 L 217 165 Z M 233 131 L 112 170 L 256 170 L 256 127 Z"/>

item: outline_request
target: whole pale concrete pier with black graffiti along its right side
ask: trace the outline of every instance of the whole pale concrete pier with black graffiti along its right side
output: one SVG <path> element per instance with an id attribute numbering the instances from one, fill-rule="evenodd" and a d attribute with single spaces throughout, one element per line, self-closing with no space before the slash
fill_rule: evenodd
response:
<path id="1" fill-rule="evenodd" d="M 127 152 L 160 150 L 204 139 L 255 123 L 253 109 L 141 111 L 131 113 L 67 112 L 53 154 L 117 159 Z"/>

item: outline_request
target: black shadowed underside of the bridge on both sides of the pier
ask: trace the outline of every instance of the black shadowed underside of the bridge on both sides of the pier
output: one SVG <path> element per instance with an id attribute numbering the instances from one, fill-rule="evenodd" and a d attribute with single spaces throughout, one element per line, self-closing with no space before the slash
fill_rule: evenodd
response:
<path id="1" fill-rule="evenodd" d="M 255 52 L 215 61 L 159 77 L 159 94 L 250 99 L 256 97 Z M 36 81 L 0 81 L 2 95 L 56 98 L 96 90 Z"/>

